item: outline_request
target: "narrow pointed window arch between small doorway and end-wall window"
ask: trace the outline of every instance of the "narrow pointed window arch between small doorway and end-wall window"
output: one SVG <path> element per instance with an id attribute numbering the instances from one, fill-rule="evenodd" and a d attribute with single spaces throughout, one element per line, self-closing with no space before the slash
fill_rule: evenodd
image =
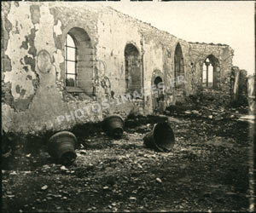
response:
<path id="1" fill-rule="evenodd" d="M 177 83 L 177 78 L 184 75 L 184 65 L 183 65 L 183 51 L 181 45 L 177 43 L 175 54 L 174 54 L 174 78 L 175 78 L 175 87 L 178 87 L 181 84 Z"/>

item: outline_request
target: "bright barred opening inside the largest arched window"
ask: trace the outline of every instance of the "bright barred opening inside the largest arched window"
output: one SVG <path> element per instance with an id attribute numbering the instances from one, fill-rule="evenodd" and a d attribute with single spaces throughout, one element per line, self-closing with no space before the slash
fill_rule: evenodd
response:
<path id="1" fill-rule="evenodd" d="M 77 87 L 77 47 L 69 34 L 65 41 L 65 79 L 67 87 Z"/>

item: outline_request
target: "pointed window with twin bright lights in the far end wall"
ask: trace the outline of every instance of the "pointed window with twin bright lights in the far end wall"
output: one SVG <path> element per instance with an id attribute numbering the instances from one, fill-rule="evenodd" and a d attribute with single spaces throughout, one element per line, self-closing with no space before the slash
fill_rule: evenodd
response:
<path id="1" fill-rule="evenodd" d="M 219 78 L 219 62 L 214 55 L 209 55 L 204 60 L 202 67 L 202 86 L 207 88 L 217 88 Z"/>

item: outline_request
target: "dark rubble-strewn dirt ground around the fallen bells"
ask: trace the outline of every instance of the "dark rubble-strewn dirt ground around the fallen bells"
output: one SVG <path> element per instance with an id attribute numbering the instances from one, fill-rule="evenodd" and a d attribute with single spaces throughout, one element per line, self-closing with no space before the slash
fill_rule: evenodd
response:
<path id="1" fill-rule="evenodd" d="M 101 130 L 79 138 L 75 164 L 48 153 L 15 154 L 3 164 L 3 212 L 248 211 L 247 113 L 224 107 L 171 107 L 172 152 L 143 145 L 154 122 L 130 120 L 114 140 Z M 7 162 L 7 161 L 6 161 Z"/>

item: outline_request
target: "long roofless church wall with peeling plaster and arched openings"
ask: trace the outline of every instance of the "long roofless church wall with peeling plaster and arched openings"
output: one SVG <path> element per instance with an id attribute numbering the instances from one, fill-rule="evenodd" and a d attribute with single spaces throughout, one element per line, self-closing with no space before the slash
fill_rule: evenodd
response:
<path id="1" fill-rule="evenodd" d="M 125 95 L 125 46 L 138 51 L 139 66 L 134 79 L 142 89 L 150 89 L 155 78 L 165 83 L 162 107 L 184 101 L 201 84 L 203 61 L 208 55 L 219 60 L 219 88 L 230 89 L 230 70 L 234 50 L 225 44 L 189 43 L 136 20 L 115 9 L 84 3 L 3 2 L 2 3 L 2 114 L 3 130 L 37 134 L 44 130 L 66 130 L 74 124 L 102 120 L 118 113 L 124 118 L 130 112 L 154 112 L 154 95 L 137 101 L 90 112 L 74 118 L 73 112 L 96 106 Z M 90 75 L 84 73 L 89 93 L 65 87 L 65 38 L 73 27 L 86 32 L 90 49 L 81 57 L 90 61 Z M 87 38 L 87 39 L 89 39 Z M 175 49 L 183 54 L 183 85 L 173 86 Z M 87 45 L 87 44 L 84 44 Z M 135 61 L 135 60 L 134 60 Z M 88 66 L 88 67 L 85 67 Z M 88 69 L 89 69 L 88 68 Z M 132 66 L 131 66 L 132 69 Z M 131 77 L 130 77 L 131 78 Z M 89 84 L 88 84 L 89 85 Z M 138 85 L 136 89 L 139 89 Z M 56 118 L 64 116 L 65 122 Z"/>

